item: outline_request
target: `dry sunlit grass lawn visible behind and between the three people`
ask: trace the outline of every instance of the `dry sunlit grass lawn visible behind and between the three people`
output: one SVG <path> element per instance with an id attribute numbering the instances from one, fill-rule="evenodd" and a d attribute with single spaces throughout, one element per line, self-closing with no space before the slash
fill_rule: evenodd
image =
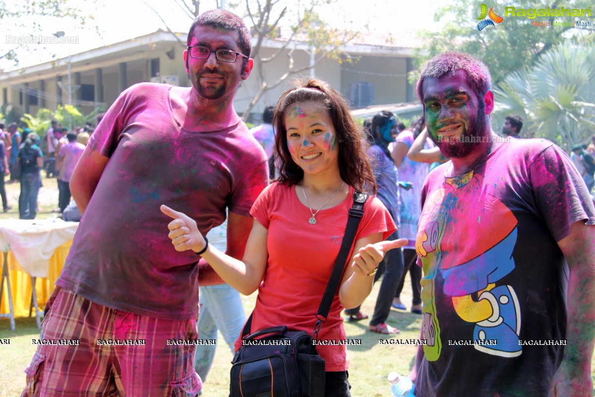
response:
<path id="1" fill-rule="evenodd" d="M 56 179 L 46 179 L 42 173 L 43 187 L 39 192 L 37 218 L 51 218 L 58 204 L 58 188 Z M 0 219 L 18 218 L 18 183 L 7 185 L 8 203 L 12 210 L 0 212 Z M 409 307 L 411 287 L 409 280 L 405 282 L 402 301 Z M 371 295 L 362 305 L 362 311 L 372 314 L 380 283 L 376 283 Z M 243 297 L 244 307 L 248 315 L 255 303 L 256 294 Z M 401 330 L 393 339 L 418 339 L 421 329 L 421 316 L 410 312 L 391 310 L 388 323 Z M 369 332 L 369 320 L 359 323 L 345 323 L 349 339 L 361 339 L 361 346 L 349 346 L 349 382 L 352 385 L 353 397 L 388 397 L 389 383 L 386 380 L 390 371 L 408 374 L 414 364 L 416 347 L 412 345 L 380 345 L 381 335 Z M 0 342 L 10 339 L 10 345 L 0 344 L 0 397 L 17 397 L 23 390 L 26 365 L 33 357 L 36 346 L 32 339 L 39 337 L 35 318 L 17 318 L 17 329 L 12 332 L 8 319 L 0 318 Z M 229 392 L 229 371 L 231 368 L 231 352 L 219 336 L 220 346 L 215 354 L 208 379 L 203 389 L 204 397 L 227 397 Z M 469 363 L 469 365 L 473 365 Z M 591 360 L 591 378 L 595 383 L 595 358 Z M 463 368 L 462 368 L 463 370 Z M 595 390 L 593 392 L 595 396 Z M 131 396 L 143 397 L 143 396 Z"/>

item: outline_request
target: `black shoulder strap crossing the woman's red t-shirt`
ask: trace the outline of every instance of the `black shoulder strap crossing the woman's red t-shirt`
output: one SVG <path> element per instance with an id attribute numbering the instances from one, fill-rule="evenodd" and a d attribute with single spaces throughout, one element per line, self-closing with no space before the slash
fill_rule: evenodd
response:
<path id="1" fill-rule="evenodd" d="M 349 218 L 347 219 L 345 236 L 343 236 L 343 242 L 341 243 L 339 255 L 337 255 L 337 260 L 334 264 L 333 273 L 331 273 L 331 277 L 328 280 L 327 288 L 324 290 L 322 301 L 320 302 L 318 312 L 316 313 L 316 318 L 318 319 L 318 321 L 314 326 L 313 339 L 318 339 L 318 331 L 320 330 L 322 323 L 327 321 L 328 311 L 330 310 L 331 304 L 333 303 L 333 298 L 335 293 L 337 292 L 337 288 L 339 288 L 341 276 L 343 275 L 343 269 L 345 268 L 349 251 L 351 251 L 353 239 L 355 239 L 355 233 L 358 231 L 359 222 L 362 220 L 362 217 L 364 216 L 364 204 L 367 201 L 367 199 L 368 195 L 366 193 L 361 193 L 357 191 L 353 193 L 353 206 L 349 210 Z M 242 329 L 242 337 L 250 335 L 251 325 L 252 314 L 250 314 L 250 317 L 248 317 L 248 320 L 246 320 L 246 324 Z"/>

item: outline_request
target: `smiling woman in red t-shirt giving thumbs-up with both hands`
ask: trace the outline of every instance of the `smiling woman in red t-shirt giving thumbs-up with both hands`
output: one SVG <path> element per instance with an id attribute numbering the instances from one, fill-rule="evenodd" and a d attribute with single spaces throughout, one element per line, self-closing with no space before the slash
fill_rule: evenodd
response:
<path id="1" fill-rule="evenodd" d="M 177 251 L 199 252 L 224 282 L 250 295 L 258 289 L 251 332 L 285 325 L 312 332 L 315 314 L 345 234 L 353 191 L 375 192 L 360 128 L 340 94 L 311 79 L 285 92 L 275 110 L 275 147 L 280 176 L 256 199 L 255 218 L 242 261 L 208 245 L 196 223 L 162 206 Z M 396 227 L 380 200 L 364 206 L 320 340 L 345 340 L 340 312 L 360 305 L 372 289 L 384 253 L 406 243 L 382 241 Z M 355 255 L 354 255 L 355 254 Z M 236 349 L 241 345 L 239 339 Z M 320 345 L 325 360 L 325 396 L 349 396 L 345 345 Z"/>

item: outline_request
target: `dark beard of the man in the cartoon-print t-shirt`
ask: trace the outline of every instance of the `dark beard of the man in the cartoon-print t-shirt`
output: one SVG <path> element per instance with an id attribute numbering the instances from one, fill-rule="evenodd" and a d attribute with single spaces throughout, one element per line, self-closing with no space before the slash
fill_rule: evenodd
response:
<path id="1" fill-rule="evenodd" d="M 484 102 L 481 101 L 477 111 L 477 117 L 469 114 L 469 122 L 465 133 L 459 137 L 461 142 L 452 140 L 434 140 L 440 151 L 446 157 L 462 158 L 471 154 L 475 148 L 480 146 L 483 140 L 489 139 L 490 131 L 487 128 L 486 110 Z"/>

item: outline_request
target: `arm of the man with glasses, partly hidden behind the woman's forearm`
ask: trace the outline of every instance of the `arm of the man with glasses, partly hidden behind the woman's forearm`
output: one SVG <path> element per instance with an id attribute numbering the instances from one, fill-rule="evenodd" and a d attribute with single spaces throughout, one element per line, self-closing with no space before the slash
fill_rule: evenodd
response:
<path id="1" fill-rule="evenodd" d="M 78 204 L 78 203 L 77 203 Z M 228 212 L 227 216 L 227 251 L 230 257 L 242 260 L 246 241 L 252 230 L 253 218 Z M 223 284 L 224 281 L 212 269 L 209 264 L 201 258 L 198 263 L 200 271 L 198 274 L 199 285 Z"/>

